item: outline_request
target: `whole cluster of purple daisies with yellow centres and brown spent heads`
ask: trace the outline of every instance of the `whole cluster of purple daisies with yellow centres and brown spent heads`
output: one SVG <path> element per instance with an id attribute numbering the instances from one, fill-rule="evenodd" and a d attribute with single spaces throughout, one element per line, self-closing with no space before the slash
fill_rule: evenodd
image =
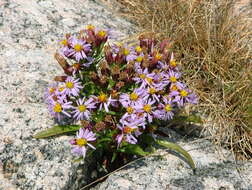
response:
<path id="1" fill-rule="evenodd" d="M 65 75 L 46 90 L 50 113 L 79 122 L 73 153 L 85 157 L 97 138 L 115 131 L 113 142 L 136 144 L 155 120 L 170 120 L 197 97 L 180 81 L 180 65 L 168 40 L 140 36 L 139 45 L 105 45 L 109 34 L 89 25 L 78 35 L 66 35 L 55 58 Z"/>

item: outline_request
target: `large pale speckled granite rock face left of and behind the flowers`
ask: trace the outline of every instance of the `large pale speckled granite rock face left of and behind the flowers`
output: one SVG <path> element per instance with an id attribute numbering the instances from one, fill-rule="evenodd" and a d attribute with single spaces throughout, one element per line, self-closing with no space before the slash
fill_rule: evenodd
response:
<path id="1" fill-rule="evenodd" d="M 117 38 L 136 30 L 99 1 L 0 0 L 0 190 L 79 189 L 85 183 L 69 137 L 32 136 L 55 124 L 43 94 L 63 73 L 53 58 L 58 41 L 90 23 L 117 31 Z"/>

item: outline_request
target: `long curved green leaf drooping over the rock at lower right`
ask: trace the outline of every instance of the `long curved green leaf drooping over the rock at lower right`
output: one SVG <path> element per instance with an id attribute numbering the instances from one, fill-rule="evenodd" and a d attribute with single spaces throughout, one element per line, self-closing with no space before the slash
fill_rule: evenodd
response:
<path id="1" fill-rule="evenodd" d="M 167 142 L 167 141 L 163 141 L 163 140 L 156 140 L 156 143 L 161 145 L 161 146 L 164 146 L 164 147 L 166 147 L 166 148 L 168 148 L 170 150 L 173 150 L 173 151 L 176 151 L 176 152 L 180 153 L 187 160 L 190 167 L 193 170 L 196 169 L 194 161 L 193 161 L 191 155 L 186 150 L 184 150 L 181 146 L 179 146 L 179 145 L 177 145 L 175 143 L 171 143 L 171 142 Z"/>

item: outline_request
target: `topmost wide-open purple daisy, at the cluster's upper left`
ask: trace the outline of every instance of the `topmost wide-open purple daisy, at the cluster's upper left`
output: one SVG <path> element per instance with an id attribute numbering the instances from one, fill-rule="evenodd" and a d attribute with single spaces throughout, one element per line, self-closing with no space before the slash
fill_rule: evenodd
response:
<path id="1" fill-rule="evenodd" d="M 71 40 L 71 49 L 69 50 L 69 55 L 76 59 L 76 61 L 80 61 L 81 59 L 87 58 L 87 53 L 91 51 L 91 45 L 86 43 L 86 41 L 82 39 L 77 39 L 73 37 Z"/>

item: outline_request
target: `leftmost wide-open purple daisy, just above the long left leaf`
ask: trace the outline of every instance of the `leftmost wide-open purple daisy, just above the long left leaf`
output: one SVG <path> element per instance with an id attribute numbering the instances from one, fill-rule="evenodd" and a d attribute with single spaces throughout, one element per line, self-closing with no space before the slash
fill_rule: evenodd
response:
<path id="1" fill-rule="evenodd" d="M 51 101 L 48 105 L 49 112 L 57 118 L 59 121 L 62 119 L 63 115 L 71 117 L 71 114 L 67 111 L 72 108 L 72 102 L 66 102 L 64 99 L 58 99 L 57 101 Z"/>

